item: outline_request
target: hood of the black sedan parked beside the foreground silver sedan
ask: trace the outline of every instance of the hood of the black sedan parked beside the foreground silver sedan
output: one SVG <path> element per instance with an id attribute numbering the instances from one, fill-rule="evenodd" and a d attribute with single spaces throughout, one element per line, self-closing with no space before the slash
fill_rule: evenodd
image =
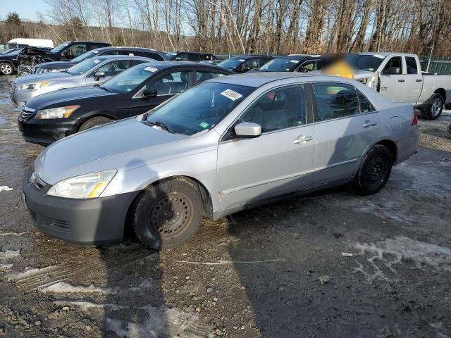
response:
<path id="1" fill-rule="evenodd" d="M 67 101 L 80 101 L 93 96 L 112 96 L 116 93 L 106 92 L 96 86 L 75 87 L 59 89 L 54 92 L 35 96 L 27 101 L 27 107 L 32 109 L 51 108 L 52 106 L 64 105 Z"/>

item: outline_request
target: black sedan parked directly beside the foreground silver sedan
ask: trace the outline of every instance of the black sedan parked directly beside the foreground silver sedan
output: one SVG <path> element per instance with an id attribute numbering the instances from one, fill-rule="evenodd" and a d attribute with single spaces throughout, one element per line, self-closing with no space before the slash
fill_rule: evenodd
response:
<path id="1" fill-rule="evenodd" d="M 175 94 L 231 70 L 190 62 L 146 62 L 101 85 L 61 89 L 27 101 L 18 117 L 27 142 L 47 145 L 70 134 L 145 113 Z M 62 118 L 44 118 L 60 113 Z"/>

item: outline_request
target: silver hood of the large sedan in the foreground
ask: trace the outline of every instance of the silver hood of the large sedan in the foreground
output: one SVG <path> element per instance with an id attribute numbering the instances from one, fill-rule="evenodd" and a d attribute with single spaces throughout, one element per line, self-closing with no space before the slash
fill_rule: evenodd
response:
<path id="1" fill-rule="evenodd" d="M 37 175 L 49 184 L 68 177 L 102 170 L 131 170 L 136 163 L 168 154 L 171 146 L 161 146 L 188 139 L 145 125 L 140 117 L 94 127 L 73 134 L 47 147 L 37 157 Z M 156 150 L 158 148 L 158 151 Z"/>

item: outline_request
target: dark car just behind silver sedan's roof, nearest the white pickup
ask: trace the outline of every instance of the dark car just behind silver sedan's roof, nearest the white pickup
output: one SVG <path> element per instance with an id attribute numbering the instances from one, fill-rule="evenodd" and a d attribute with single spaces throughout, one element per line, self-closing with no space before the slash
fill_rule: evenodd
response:
<path id="1" fill-rule="evenodd" d="M 259 72 L 300 72 L 309 73 L 321 69 L 320 55 L 278 56 L 259 68 Z"/>

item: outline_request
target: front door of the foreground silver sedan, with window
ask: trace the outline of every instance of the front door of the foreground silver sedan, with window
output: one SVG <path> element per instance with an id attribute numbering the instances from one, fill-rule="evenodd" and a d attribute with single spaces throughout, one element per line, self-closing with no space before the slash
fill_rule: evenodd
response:
<path id="1" fill-rule="evenodd" d="M 234 139 L 231 127 L 219 142 L 223 211 L 311 186 L 316 138 L 304 98 L 301 84 L 266 92 L 237 120 L 259 124 L 261 136 Z"/>

